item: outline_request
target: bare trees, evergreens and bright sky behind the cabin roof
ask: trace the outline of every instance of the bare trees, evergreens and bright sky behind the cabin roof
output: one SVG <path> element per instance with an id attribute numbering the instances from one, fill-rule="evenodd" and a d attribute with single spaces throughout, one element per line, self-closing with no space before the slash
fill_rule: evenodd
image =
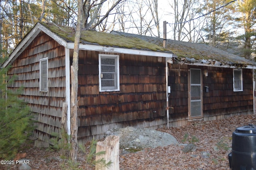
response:
<path id="1" fill-rule="evenodd" d="M 205 43 L 252 58 L 256 52 L 255 0 L 83 0 L 82 28 Z M 75 27 L 77 0 L 0 0 L 2 58 L 38 21 Z"/>

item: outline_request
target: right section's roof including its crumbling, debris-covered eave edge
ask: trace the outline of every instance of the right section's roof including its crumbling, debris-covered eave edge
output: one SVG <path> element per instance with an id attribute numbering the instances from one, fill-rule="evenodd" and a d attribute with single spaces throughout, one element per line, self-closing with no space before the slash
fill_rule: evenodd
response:
<path id="1" fill-rule="evenodd" d="M 158 44 L 159 46 L 162 46 L 163 44 L 163 38 L 142 36 L 117 31 L 112 31 L 111 33 L 116 35 L 140 38 L 142 40 Z M 254 68 L 256 66 L 256 62 L 252 60 L 236 56 L 234 54 L 220 50 L 218 48 L 208 46 L 206 44 L 183 42 L 168 39 L 166 48 L 172 51 L 174 55 L 177 56 L 177 58 L 175 58 L 174 60 L 176 60 L 179 63 L 233 68 Z"/>

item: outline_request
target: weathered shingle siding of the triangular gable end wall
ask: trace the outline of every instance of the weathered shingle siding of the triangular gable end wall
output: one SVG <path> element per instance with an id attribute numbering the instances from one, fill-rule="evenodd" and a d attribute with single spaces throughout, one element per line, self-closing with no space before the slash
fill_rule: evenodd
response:
<path id="1" fill-rule="evenodd" d="M 48 92 L 39 91 L 39 60 L 48 57 Z M 63 101 L 66 98 L 65 48 L 44 33 L 38 36 L 18 56 L 8 72 L 16 75 L 12 87 L 24 87 L 20 95 L 34 113 L 34 136 L 50 142 L 52 132 L 60 132 Z"/>

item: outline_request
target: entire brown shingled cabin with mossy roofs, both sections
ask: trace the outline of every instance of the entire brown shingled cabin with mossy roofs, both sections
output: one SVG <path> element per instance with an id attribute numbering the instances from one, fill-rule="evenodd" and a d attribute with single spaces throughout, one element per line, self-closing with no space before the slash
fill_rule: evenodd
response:
<path id="1" fill-rule="evenodd" d="M 50 142 L 67 114 L 74 28 L 37 23 L 2 67 L 12 65 L 8 88 L 23 87 L 33 136 Z M 78 142 L 110 128 L 183 126 L 254 114 L 255 62 L 204 44 L 82 30 L 78 68 Z M 64 104 L 67 111 L 63 112 Z"/>

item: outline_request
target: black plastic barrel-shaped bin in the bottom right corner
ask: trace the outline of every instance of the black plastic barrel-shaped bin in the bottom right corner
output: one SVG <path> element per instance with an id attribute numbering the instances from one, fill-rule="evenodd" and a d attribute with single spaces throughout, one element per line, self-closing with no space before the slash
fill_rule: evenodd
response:
<path id="1" fill-rule="evenodd" d="M 231 170 L 256 170 L 256 126 L 236 128 L 228 160 Z"/>

